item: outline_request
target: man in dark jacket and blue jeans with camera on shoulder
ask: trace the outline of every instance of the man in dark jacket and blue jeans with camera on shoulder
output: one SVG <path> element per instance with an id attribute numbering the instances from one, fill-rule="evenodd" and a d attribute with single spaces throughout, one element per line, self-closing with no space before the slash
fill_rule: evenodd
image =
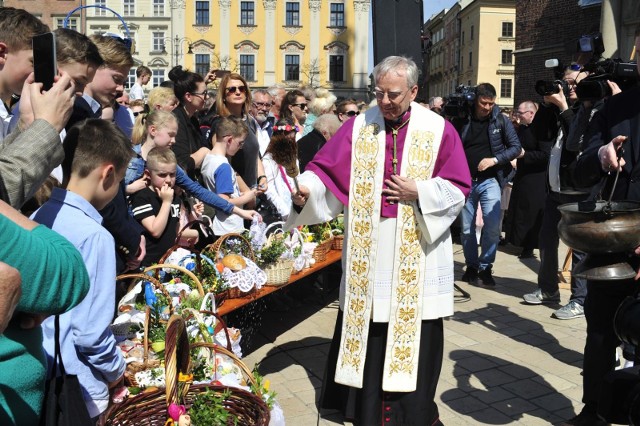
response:
<path id="1" fill-rule="evenodd" d="M 466 270 L 462 280 L 493 287 L 491 268 L 500 242 L 500 198 L 502 187 L 512 170 L 511 160 L 524 151 L 511 121 L 495 104 L 496 89 L 489 83 L 475 89 L 462 86 L 458 95 L 450 95 L 445 115 L 452 120 L 464 146 L 471 171 L 471 192 L 462 209 L 462 248 Z M 455 106 L 455 108 L 454 108 Z M 454 114 L 455 113 L 455 114 Z M 476 238 L 476 212 L 482 206 L 480 256 Z"/>

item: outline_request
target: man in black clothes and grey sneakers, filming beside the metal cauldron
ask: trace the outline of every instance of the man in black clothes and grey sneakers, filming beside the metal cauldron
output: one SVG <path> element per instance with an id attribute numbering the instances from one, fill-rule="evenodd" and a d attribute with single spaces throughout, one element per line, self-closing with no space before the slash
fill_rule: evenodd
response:
<path id="1" fill-rule="evenodd" d="M 538 289 L 525 294 L 523 299 L 531 305 L 542 303 L 560 303 L 558 287 L 558 223 L 560 212 L 558 206 L 565 203 L 583 201 L 589 196 L 588 188 L 579 188 L 573 182 L 572 170 L 575 167 L 577 150 L 572 151 L 567 146 L 567 136 L 570 133 L 582 134 L 574 123 L 580 103 L 575 93 L 576 80 L 586 77 L 580 72 L 578 64 L 569 65 L 563 76 L 564 85 L 569 89 L 565 96 L 560 85 L 560 91 L 544 97 L 544 107 L 536 114 L 532 127 L 540 140 L 553 140 L 548 168 L 548 193 L 545 201 L 542 226 L 540 228 L 540 268 L 538 270 Z M 574 127 L 573 132 L 571 127 Z M 583 127 L 584 129 L 584 127 Z M 577 265 L 584 258 L 584 253 L 573 251 L 573 265 Z M 581 318 L 584 316 L 584 301 L 587 295 L 587 284 L 584 279 L 571 278 L 571 298 L 569 302 L 556 310 L 552 317 L 562 320 Z"/>

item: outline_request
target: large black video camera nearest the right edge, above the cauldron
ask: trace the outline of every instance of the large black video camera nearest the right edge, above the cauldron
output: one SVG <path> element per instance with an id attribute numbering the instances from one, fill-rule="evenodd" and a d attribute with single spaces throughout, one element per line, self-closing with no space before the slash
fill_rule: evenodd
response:
<path id="1" fill-rule="evenodd" d="M 582 67 L 590 74 L 576 86 L 576 95 L 581 101 L 597 101 L 611 96 L 607 80 L 615 82 L 622 90 L 637 83 L 638 69 L 635 62 L 623 62 L 619 58 L 602 59 L 604 43 L 601 34 L 580 37 L 578 52 L 591 53 L 591 60 Z"/>

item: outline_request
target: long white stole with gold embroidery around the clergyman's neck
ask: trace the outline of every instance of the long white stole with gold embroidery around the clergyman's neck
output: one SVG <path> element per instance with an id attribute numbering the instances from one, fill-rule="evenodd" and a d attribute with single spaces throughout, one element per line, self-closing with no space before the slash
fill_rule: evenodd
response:
<path id="1" fill-rule="evenodd" d="M 431 117 L 420 109 L 412 109 L 401 175 L 426 180 L 433 174 L 442 125 L 434 126 L 440 129 L 436 131 L 436 138 L 433 131 L 426 130 L 433 123 Z M 377 108 L 356 119 L 353 135 L 344 319 L 335 380 L 362 388 L 373 307 L 386 145 L 384 121 Z M 415 202 L 398 203 L 391 318 L 383 376 L 385 391 L 412 391 L 417 381 L 426 242 L 418 228 L 415 206 Z"/>

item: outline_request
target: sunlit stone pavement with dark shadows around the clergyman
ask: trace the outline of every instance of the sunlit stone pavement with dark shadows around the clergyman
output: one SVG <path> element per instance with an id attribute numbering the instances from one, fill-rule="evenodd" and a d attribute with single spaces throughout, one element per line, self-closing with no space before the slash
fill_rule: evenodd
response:
<path id="1" fill-rule="evenodd" d="M 454 252 L 459 280 L 464 257 L 459 245 Z M 456 303 L 455 315 L 444 323 L 436 402 L 447 426 L 557 424 L 582 407 L 585 320 L 551 318 L 561 305 L 524 304 L 522 295 L 536 288 L 539 260 L 520 260 L 517 254 L 515 248 L 501 247 L 495 289 L 457 281 L 471 300 Z M 337 412 L 322 410 L 319 416 L 316 405 L 338 306 L 337 291 L 318 287 L 308 284 L 298 294 L 291 290 L 291 297 L 303 300 L 300 307 L 268 308 L 244 358 L 250 366 L 261 362 L 288 426 L 343 424 Z M 561 290 L 563 303 L 569 294 Z"/>

